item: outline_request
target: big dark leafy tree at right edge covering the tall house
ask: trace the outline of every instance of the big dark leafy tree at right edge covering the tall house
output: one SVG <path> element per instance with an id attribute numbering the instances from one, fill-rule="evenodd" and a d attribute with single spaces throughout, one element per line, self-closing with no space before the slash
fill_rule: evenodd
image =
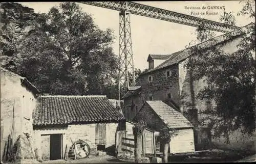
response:
<path id="1" fill-rule="evenodd" d="M 238 15 L 255 17 L 254 2 L 246 1 Z M 236 22 L 232 13 L 224 13 L 220 18 L 227 24 Z M 206 86 L 199 91 L 197 98 L 209 102 L 203 112 L 204 120 L 215 133 L 224 135 L 228 142 L 228 134 L 234 130 L 253 134 L 255 131 L 255 23 L 247 25 L 245 30 L 238 29 L 241 41 L 238 50 L 224 53 L 221 47 L 234 38 L 225 34 L 225 42 L 217 47 L 212 44 L 208 49 L 193 46 L 191 57 L 186 68 L 193 72 L 193 80 L 204 77 Z M 212 39 L 212 43 L 214 43 Z M 210 104 L 214 102 L 214 104 Z"/>

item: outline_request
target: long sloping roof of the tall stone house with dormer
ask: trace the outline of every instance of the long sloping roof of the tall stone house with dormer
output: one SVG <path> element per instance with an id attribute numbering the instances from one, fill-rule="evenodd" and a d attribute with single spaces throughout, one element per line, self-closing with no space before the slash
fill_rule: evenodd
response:
<path id="1" fill-rule="evenodd" d="M 245 27 L 246 27 L 246 26 L 245 26 Z M 246 29 L 245 27 L 244 27 L 244 28 L 241 28 L 242 31 Z M 230 34 L 230 36 L 235 37 L 235 36 L 241 35 L 241 32 L 232 31 L 232 32 L 230 32 L 229 34 Z M 221 42 L 223 42 L 223 41 L 225 41 L 225 40 L 228 40 L 229 37 L 227 37 L 227 36 L 228 36 L 228 35 L 225 35 L 225 34 L 224 34 L 224 35 L 221 35 L 221 36 L 217 36 L 217 37 L 215 37 L 215 38 L 213 38 L 213 39 L 209 39 L 209 40 L 207 40 L 207 41 L 204 41 L 204 42 L 202 42 L 202 43 L 199 43 L 199 44 L 197 44 L 197 45 L 194 45 L 193 47 L 198 46 L 198 47 L 200 47 L 200 48 L 208 48 L 208 47 L 210 47 L 210 46 L 213 46 L 213 45 L 219 44 L 219 43 L 221 43 Z M 160 64 L 159 66 L 157 66 L 156 68 L 150 69 L 150 70 L 148 70 L 148 71 L 146 71 L 146 72 L 144 72 L 144 73 L 152 72 L 152 71 L 155 71 L 155 70 L 158 70 L 158 69 L 167 67 L 167 66 L 171 66 L 171 65 L 173 65 L 173 64 L 176 64 L 176 63 L 179 63 L 179 62 L 185 60 L 186 58 L 188 58 L 188 57 L 191 55 L 191 48 L 192 48 L 192 47 L 186 48 L 186 49 L 183 49 L 183 50 L 180 50 L 180 51 L 178 51 L 178 52 L 175 52 L 175 53 L 170 54 L 170 57 L 169 57 L 166 61 L 164 61 L 163 63 L 161 63 L 161 64 Z M 143 73 L 143 74 L 144 74 L 144 73 Z"/>

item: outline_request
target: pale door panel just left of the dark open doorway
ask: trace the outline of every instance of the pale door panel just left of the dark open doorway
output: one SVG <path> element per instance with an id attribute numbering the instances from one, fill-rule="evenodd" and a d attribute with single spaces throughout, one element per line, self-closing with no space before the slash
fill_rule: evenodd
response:
<path id="1" fill-rule="evenodd" d="M 50 160 L 50 135 L 41 135 L 42 160 Z"/>

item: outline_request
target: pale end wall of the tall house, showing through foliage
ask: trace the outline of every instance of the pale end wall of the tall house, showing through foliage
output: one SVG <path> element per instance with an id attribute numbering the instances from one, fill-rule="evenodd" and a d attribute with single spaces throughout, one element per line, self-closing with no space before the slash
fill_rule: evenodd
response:
<path id="1" fill-rule="evenodd" d="M 223 50 L 224 53 L 232 53 L 236 51 L 238 43 L 241 41 L 241 38 L 236 38 L 233 39 L 226 44 L 218 45 L 217 47 L 220 47 L 221 50 Z M 210 53 L 210 52 L 209 52 Z M 194 56 L 194 58 L 197 58 L 197 56 Z M 181 111 L 186 111 L 186 106 L 185 102 L 191 102 L 191 93 L 190 93 L 190 76 L 186 69 L 184 68 L 184 64 L 187 62 L 187 60 L 179 63 L 179 78 L 180 78 L 180 106 L 181 106 Z M 193 83 L 193 90 L 195 92 L 195 97 L 197 97 L 197 94 L 199 91 L 206 85 L 204 82 L 205 78 L 202 78 L 198 81 L 194 81 Z M 196 99 L 196 108 L 198 111 L 204 111 L 206 109 L 206 102 L 201 101 L 199 99 Z M 212 105 L 215 105 L 215 102 L 211 102 Z M 203 114 L 199 114 L 199 120 L 205 117 Z M 249 151 L 253 150 L 255 152 L 255 146 L 254 146 L 254 141 L 255 141 L 255 135 L 253 136 L 248 136 L 248 135 L 243 135 L 239 130 L 233 132 L 232 134 L 229 135 L 230 138 L 230 144 L 225 144 L 224 138 L 215 138 L 212 140 L 212 143 L 221 147 L 221 148 L 230 148 L 230 149 L 248 149 Z M 200 142 L 200 141 L 199 141 Z M 253 145 L 253 146 L 250 146 Z"/>

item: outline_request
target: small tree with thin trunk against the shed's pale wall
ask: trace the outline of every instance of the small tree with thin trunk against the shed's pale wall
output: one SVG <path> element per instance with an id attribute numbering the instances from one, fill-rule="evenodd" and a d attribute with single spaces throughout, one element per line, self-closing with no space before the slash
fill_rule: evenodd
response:
<path id="1" fill-rule="evenodd" d="M 163 161 L 164 163 L 168 163 L 168 149 L 169 149 L 169 144 L 170 140 L 176 136 L 177 130 L 175 129 L 170 129 L 170 128 L 162 128 L 160 129 L 159 132 L 159 141 L 164 144 L 164 152 L 163 152 Z"/>

